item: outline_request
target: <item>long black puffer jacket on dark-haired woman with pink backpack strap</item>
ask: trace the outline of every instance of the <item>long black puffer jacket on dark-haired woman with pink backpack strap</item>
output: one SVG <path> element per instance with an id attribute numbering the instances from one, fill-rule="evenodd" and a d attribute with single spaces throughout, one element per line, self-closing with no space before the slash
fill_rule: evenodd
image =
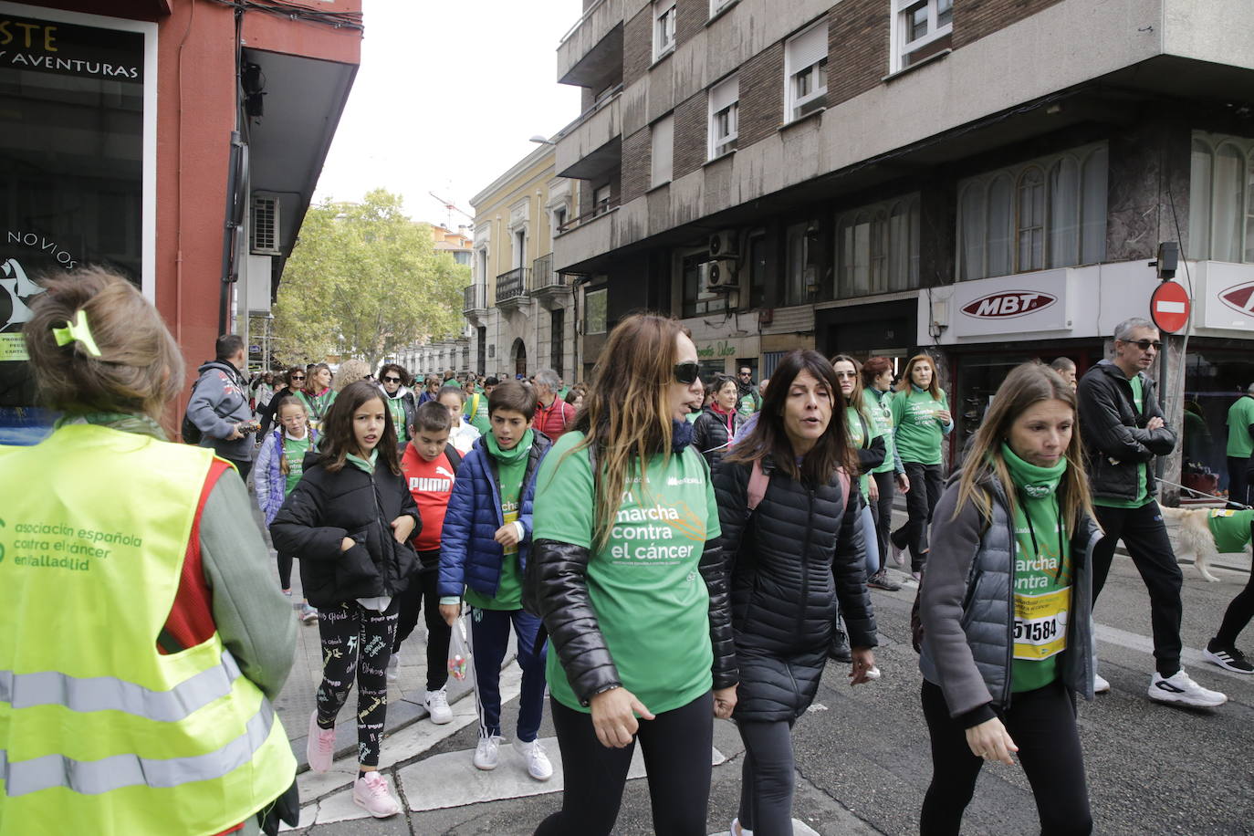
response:
<path id="1" fill-rule="evenodd" d="M 856 503 L 846 503 L 834 474 L 818 490 L 779 473 L 750 515 L 752 465 L 725 464 L 715 474 L 722 549 L 735 555 L 731 623 L 740 668 L 735 717 L 799 717 L 814 701 L 828 658 L 836 602 L 851 647 L 875 647 L 875 614 L 867 592 L 865 544 Z"/>

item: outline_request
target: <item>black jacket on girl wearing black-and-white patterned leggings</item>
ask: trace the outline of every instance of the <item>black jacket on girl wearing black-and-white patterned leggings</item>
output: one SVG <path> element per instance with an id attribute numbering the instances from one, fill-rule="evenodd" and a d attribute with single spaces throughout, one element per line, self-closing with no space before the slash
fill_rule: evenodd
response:
<path id="1" fill-rule="evenodd" d="M 395 595 L 418 572 L 418 555 L 396 543 L 391 521 L 409 514 L 423 525 L 404 476 L 380 465 L 367 474 L 352 462 L 339 473 L 305 456 L 305 474 L 270 525 L 275 548 L 301 559 L 301 587 L 315 607 Z M 342 551 L 344 538 L 356 545 Z"/>

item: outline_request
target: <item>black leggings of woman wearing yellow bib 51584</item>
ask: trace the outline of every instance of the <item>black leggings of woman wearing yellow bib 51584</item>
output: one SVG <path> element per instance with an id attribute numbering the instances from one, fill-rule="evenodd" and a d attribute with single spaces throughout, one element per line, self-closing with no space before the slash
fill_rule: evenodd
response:
<path id="1" fill-rule="evenodd" d="M 949 717 L 944 693 L 927 681 L 923 683 L 923 716 L 932 736 L 932 785 L 923 798 L 919 833 L 956 836 L 984 760 L 972 753 L 963 724 Z M 1085 761 L 1076 731 L 1076 709 L 1067 689 L 1055 682 L 1017 693 L 1001 719 L 1018 746 L 1017 760 L 1032 785 L 1041 835 L 1091 833 Z"/>

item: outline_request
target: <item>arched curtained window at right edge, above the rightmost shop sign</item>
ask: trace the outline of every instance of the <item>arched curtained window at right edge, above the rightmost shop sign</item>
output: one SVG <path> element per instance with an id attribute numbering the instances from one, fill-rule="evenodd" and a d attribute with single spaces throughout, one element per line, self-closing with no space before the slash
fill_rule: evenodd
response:
<path id="1" fill-rule="evenodd" d="M 1189 258 L 1254 262 L 1254 139 L 1194 132 Z"/>

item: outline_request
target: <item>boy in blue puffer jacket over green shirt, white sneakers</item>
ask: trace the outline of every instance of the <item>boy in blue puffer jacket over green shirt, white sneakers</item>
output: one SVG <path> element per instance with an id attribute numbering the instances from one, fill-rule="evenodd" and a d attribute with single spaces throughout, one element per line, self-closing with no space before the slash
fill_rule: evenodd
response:
<path id="1" fill-rule="evenodd" d="M 500 747 L 500 663 L 509 627 L 518 637 L 523 687 L 514 748 L 527 773 L 548 781 L 553 766 L 537 734 L 544 712 L 544 653 L 535 652 L 540 619 L 523 609 L 523 568 L 532 540 L 535 474 L 549 440 L 532 429 L 535 395 L 505 381 L 488 399 L 492 431 L 461 460 L 440 538 L 440 614 L 450 625 L 470 607 L 479 745 L 474 765 L 497 767 Z"/>

